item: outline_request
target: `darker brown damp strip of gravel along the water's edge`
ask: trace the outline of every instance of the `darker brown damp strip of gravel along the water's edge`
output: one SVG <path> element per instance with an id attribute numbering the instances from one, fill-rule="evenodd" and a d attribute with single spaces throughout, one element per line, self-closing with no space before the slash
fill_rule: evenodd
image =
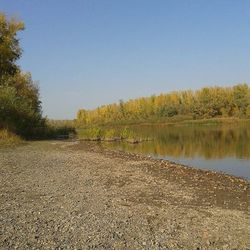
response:
<path id="1" fill-rule="evenodd" d="M 221 199 L 230 199 L 230 202 L 228 202 L 228 206 L 222 205 L 223 208 L 241 209 L 241 207 L 244 207 L 243 210 L 250 212 L 250 181 L 247 179 L 223 172 L 198 169 L 168 160 L 154 159 L 142 154 L 108 149 L 101 143 L 98 144 L 96 142 L 85 141 L 79 144 L 73 142 L 73 144 L 69 146 L 69 148 L 101 154 L 114 160 L 125 159 L 126 161 L 137 161 L 138 164 L 140 162 L 147 162 L 148 164 L 150 164 L 149 168 L 152 171 L 158 171 L 159 174 L 162 172 L 163 176 L 167 180 L 180 183 L 184 186 L 186 185 L 192 188 L 195 187 L 195 189 L 203 198 L 206 196 L 207 190 L 212 190 L 212 192 L 215 193 L 216 191 L 218 191 L 218 193 L 220 193 L 219 195 Z M 202 195 L 202 192 L 204 195 Z M 227 192 L 232 192 L 232 195 Z M 240 196 L 241 198 L 244 197 L 244 205 L 241 205 L 239 207 L 237 207 L 237 202 L 234 202 L 234 199 L 239 200 L 238 196 Z M 216 204 L 215 202 L 214 205 L 217 206 L 218 204 Z"/>

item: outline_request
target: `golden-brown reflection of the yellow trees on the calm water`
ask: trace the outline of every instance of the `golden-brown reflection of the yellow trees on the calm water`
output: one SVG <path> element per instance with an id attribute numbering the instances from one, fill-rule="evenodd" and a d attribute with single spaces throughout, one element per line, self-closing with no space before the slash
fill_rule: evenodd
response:
<path id="1" fill-rule="evenodd" d="M 250 127 L 237 126 L 135 126 L 142 138 L 152 141 L 119 146 L 143 154 L 173 157 L 204 157 L 221 159 L 235 157 L 250 159 Z"/>

